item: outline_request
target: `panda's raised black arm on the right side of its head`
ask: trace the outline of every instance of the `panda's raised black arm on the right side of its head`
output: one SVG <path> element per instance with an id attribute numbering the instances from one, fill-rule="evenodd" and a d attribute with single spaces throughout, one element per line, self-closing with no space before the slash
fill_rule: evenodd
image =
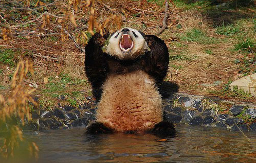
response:
<path id="1" fill-rule="evenodd" d="M 150 48 L 142 57 L 144 71 L 153 76 L 157 83 L 162 82 L 168 72 L 169 54 L 166 43 L 154 35 L 145 35 L 145 41 Z"/>

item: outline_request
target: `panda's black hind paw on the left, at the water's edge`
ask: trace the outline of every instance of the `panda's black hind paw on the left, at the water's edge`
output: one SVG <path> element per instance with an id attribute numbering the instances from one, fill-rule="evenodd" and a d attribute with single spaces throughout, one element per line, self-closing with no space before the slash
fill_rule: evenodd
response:
<path id="1" fill-rule="evenodd" d="M 113 133 L 113 130 L 106 127 L 103 123 L 101 122 L 93 122 L 90 124 L 86 132 L 87 134 L 102 134 L 102 133 Z"/>

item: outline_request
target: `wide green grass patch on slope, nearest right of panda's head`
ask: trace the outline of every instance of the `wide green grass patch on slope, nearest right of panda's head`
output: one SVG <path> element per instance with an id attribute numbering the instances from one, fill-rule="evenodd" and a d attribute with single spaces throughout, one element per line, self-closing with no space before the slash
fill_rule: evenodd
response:
<path id="1" fill-rule="evenodd" d="M 192 29 L 187 31 L 185 34 L 181 34 L 179 38 L 182 41 L 187 42 L 198 42 L 202 44 L 216 43 L 214 38 L 207 36 L 205 32 L 199 29 Z"/>

